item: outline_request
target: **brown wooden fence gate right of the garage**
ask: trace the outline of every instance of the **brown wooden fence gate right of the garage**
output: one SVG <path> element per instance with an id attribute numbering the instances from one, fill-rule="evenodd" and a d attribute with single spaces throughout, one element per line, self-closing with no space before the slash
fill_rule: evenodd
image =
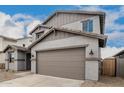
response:
<path id="1" fill-rule="evenodd" d="M 102 62 L 102 75 L 115 76 L 116 75 L 116 61 L 115 58 L 107 58 Z"/>

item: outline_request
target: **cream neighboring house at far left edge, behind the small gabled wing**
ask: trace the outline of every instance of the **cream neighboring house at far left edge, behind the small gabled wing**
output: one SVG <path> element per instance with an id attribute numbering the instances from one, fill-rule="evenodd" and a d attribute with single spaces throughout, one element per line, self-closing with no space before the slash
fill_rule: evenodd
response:
<path id="1" fill-rule="evenodd" d="M 8 38 L 0 35 L 0 63 L 5 63 L 5 54 L 3 53 L 3 50 L 8 45 L 16 45 L 16 42 L 17 42 L 16 39 Z"/>

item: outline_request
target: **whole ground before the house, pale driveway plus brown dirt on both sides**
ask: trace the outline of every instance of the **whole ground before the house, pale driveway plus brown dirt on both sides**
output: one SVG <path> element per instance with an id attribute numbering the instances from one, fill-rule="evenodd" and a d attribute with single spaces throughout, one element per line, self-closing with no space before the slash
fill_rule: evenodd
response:
<path id="1" fill-rule="evenodd" d="M 124 78 L 102 76 L 99 81 L 73 80 L 58 77 L 31 74 L 30 72 L 0 71 L 0 86 L 76 86 L 76 87 L 124 87 Z"/>

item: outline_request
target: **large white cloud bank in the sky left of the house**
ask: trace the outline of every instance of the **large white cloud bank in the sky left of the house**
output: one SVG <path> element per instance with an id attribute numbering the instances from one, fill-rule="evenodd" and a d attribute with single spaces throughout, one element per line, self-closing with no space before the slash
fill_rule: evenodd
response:
<path id="1" fill-rule="evenodd" d="M 39 19 L 30 15 L 15 14 L 11 16 L 0 12 L 0 35 L 21 38 L 35 26 L 35 22 L 40 23 Z"/>

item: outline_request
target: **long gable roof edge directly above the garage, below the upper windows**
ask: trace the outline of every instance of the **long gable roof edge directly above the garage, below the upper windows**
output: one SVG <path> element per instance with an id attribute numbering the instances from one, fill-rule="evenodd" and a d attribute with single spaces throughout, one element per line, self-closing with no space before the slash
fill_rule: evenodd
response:
<path id="1" fill-rule="evenodd" d="M 28 47 L 28 49 L 32 48 L 34 45 L 39 43 L 43 38 L 45 38 L 47 35 L 49 35 L 53 31 L 63 31 L 63 32 L 73 33 L 73 34 L 87 36 L 87 37 L 91 37 L 91 38 L 101 39 L 101 40 L 104 40 L 103 47 L 105 46 L 106 40 L 107 40 L 107 36 L 105 36 L 105 35 L 100 35 L 100 34 L 95 34 L 95 33 L 90 33 L 90 32 L 82 32 L 82 31 L 69 30 L 69 29 L 65 29 L 65 28 L 51 28 L 48 32 L 46 32 L 44 35 L 42 35 L 38 40 L 33 42 Z"/>

